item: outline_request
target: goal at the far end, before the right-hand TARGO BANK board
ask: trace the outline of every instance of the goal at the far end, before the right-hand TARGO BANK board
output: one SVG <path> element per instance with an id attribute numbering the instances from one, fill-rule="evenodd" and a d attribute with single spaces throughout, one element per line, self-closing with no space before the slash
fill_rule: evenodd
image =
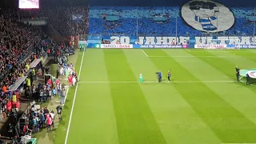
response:
<path id="1" fill-rule="evenodd" d="M 216 49 L 224 49 L 224 50 L 240 50 L 240 39 L 207 39 L 206 50 L 216 50 Z M 227 46 L 229 45 L 229 46 Z"/>

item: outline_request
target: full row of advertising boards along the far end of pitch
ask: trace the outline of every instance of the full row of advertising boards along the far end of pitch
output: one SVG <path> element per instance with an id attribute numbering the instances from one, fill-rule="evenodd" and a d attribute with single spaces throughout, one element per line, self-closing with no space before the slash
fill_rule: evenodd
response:
<path id="1" fill-rule="evenodd" d="M 133 44 L 90 44 L 96 49 L 256 49 L 256 45 L 133 45 Z"/>

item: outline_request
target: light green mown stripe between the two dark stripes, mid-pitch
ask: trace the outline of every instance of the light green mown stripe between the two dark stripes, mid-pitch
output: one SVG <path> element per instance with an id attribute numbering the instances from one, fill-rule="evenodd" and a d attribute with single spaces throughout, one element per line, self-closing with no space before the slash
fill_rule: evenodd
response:
<path id="1" fill-rule="evenodd" d="M 146 83 L 143 82 L 140 86 L 167 143 L 221 143 L 210 127 L 202 122 L 198 114 L 174 89 L 174 83 L 156 82 L 154 72 L 158 68 L 150 58 L 138 50 L 123 51 L 134 74 L 138 76 L 142 73 L 146 80 Z M 154 80 L 154 83 L 147 83 L 150 79 Z"/>

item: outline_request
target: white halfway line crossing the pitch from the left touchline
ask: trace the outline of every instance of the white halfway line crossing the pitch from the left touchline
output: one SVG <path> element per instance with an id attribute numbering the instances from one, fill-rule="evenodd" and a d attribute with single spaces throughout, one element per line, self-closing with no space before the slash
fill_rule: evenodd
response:
<path id="1" fill-rule="evenodd" d="M 171 82 L 162 82 L 162 83 L 221 83 L 221 82 L 237 82 L 237 81 L 171 81 Z M 79 82 L 79 83 L 140 83 L 140 82 L 133 82 L 133 81 L 127 81 L 127 82 Z M 142 83 L 158 83 L 158 82 L 142 82 Z"/>

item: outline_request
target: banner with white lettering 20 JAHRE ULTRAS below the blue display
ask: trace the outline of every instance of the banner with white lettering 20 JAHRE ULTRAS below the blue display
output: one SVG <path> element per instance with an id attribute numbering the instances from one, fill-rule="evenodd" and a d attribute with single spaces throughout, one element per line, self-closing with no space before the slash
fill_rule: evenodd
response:
<path id="1" fill-rule="evenodd" d="M 89 36 L 90 38 L 90 36 Z M 138 45 L 171 45 L 173 42 L 177 45 L 186 45 L 186 44 L 196 44 L 201 45 L 202 42 L 208 42 L 208 39 L 214 39 L 214 37 L 137 37 L 136 35 L 130 36 L 110 36 L 110 35 L 102 35 L 102 40 L 109 41 L 110 44 L 116 44 L 120 42 L 120 44 L 131 44 L 133 42 L 138 42 Z M 238 41 L 240 39 L 240 42 Z M 217 41 L 216 41 L 217 42 Z M 219 45 L 256 45 L 256 36 L 255 37 L 238 37 L 238 36 L 222 36 L 218 37 Z M 217 43 L 211 43 L 217 45 Z"/>

